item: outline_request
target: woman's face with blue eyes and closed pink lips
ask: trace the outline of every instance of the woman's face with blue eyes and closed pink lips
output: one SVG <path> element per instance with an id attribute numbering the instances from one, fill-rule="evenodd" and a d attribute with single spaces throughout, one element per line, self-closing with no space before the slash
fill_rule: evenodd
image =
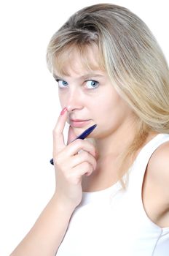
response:
<path id="1" fill-rule="evenodd" d="M 93 124 L 98 124 L 93 138 L 107 137 L 119 129 L 126 131 L 125 126 L 133 121 L 133 112 L 114 89 L 109 76 L 99 68 L 84 69 L 76 52 L 73 56 L 66 67 L 68 75 L 60 76 L 56 71 L 55 79 L 60 105 L 67 107 L 68 123 L 75 134 L 79 135 Z M 90 50 L 89 58 L 95 61 L 93 50 Z"/>

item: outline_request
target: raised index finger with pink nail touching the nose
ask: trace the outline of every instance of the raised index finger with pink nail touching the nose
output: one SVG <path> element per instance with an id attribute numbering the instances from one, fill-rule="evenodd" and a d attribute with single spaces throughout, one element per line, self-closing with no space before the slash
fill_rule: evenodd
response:
<path id="1" fill-rule="evenodd" d="M 60 151 L 66 146 L 64 143 L 63 129 L 66 124 L 67 113 L 67 108 L 63 108 L 60 116 L 58 117 L 55 128 L 53 129 L 53 149 L 55 152 Z"/>

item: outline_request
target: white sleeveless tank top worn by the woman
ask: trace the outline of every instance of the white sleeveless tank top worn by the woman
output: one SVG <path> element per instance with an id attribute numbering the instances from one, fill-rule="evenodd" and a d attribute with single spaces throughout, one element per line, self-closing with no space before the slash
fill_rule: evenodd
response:
<path id="1" fill-rule="evenodd" d="M 98 192 L 84 192 L 57 256 L 168 256 L 169 227 L 146 215 L 141 189 L 153 152 L 169 135 L 159 134 L 141 149 L 130 167 L 127 190 L 120 183 Z"/>

